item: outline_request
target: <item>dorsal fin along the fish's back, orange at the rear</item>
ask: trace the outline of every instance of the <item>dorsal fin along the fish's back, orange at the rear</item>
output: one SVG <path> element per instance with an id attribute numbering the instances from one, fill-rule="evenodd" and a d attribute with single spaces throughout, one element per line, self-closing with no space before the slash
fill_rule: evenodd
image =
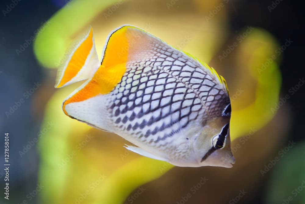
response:
<path id="1" fill-rule="evenodd" d="M 228 90 L 224 78 L 215 69 L 191 54 L 171 46 L 155 35 L 132 25 L 123 25 L 108 35 L 102 52 L 102 65 L 107 68 L 119 63 L 149 60 L 149 57 L 153 55 L 152 52 L 156 53 L 160 50 L 164 53 L 163 48 L 176 50 L 192 58 Z"/>

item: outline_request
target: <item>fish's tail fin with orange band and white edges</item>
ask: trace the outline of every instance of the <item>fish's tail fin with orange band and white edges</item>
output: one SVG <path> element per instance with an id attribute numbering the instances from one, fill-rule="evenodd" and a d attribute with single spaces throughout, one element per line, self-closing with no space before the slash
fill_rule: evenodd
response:
<path id="1" fill-rule="evenodd" d="M 57 70 L 55 88 L 91 79 L 100 66 L 92 28 L 72 44 Z"/>

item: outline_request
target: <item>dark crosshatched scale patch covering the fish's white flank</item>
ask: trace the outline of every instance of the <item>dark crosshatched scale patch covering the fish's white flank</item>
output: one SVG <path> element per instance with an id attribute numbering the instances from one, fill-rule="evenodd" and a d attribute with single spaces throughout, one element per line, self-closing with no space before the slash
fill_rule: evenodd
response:
<path id="1" fill-rule="evenodd" d="M 129 61 L 110 93 L 110 118 L 121 134 L 164 146 L 228 104 L 224 86 L 182 52 L 156 45 L 139 57 L 144 60 Z"/>

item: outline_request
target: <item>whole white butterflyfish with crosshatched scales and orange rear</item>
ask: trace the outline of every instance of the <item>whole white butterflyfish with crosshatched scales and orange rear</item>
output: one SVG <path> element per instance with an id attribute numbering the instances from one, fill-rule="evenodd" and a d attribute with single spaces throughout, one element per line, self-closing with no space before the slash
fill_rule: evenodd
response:
<path id="1" fill-rule="evenodd" d="M 67 116 L 175 166 L 235 163 L 228 86 L 215 69 L 133 25 L 109 33 L 101 60 L 92 27 L 68 50 L 55 87 L 86 81 L 64 99 Z"/>

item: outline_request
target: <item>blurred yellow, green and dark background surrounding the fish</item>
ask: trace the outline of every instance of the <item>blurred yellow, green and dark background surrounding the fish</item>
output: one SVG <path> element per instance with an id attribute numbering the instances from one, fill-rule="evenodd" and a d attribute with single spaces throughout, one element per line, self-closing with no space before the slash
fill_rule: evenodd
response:
<path id="1" fill-rule="evenodd" d="M 305 203 L 302 5 L 282 0 L 5 0 L 0 3 L 0 154 L 9 132 L 9 200 L 0 203 Z M 56 68 L 88 25 L 99 56 L 132 24 L 191 53 L 228 83 L 233 168 L 173 167 L 66 117 L 81 83 Z M 0 169 L 4 192 L 5 166 Z"/>

